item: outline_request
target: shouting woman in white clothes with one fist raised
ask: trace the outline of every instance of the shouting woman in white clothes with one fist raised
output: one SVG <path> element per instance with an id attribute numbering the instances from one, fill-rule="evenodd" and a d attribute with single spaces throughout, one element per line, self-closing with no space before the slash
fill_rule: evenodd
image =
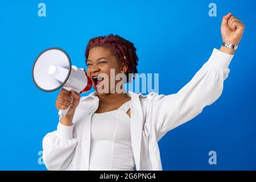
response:
<path id="1" fill-rule="evenodd" d="M 238 45 L 244 29 L 231 13 L 224 16 L 223 42 Z M 80 98 L 75 92 L 60 91 L 56 108 L 71 109 L 60 118 L 57 130 L 43 139 L 43 160 L 49 170 L 162 170 L 158 141 L 220 97 L 234 54 L 234 48 L 226 44 L 214 49 L 207 63 L 176 94 L 113 92 L 118 83 L 109 83 L 110 70 L 114 76 L 137 73 L 135 51 L 133 43 L 117 35 L 89 41 L 87 73 L 96 92 Z"/>

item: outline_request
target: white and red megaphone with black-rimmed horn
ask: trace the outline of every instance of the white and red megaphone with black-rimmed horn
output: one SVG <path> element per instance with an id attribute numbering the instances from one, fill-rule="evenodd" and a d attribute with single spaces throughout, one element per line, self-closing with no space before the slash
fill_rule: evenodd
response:
<path id="1" fill-rule="evenodd" d="M 79 94 L 92 88 L 92 80 L 84 68 L 71 65 L 67 52 L 60 48 L 48 48 L 36 57 L 32 68 L 34 84 L 44 92 L 53 92 L 63 86 L 68 91 Z M 59 116 L 64 118 L 70 107 L 59 110 Z"/>

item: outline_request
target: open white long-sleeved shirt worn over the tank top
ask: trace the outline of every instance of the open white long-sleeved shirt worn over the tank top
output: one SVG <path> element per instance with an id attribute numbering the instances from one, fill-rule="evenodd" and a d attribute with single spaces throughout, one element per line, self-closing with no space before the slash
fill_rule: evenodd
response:
<path id="1" fill-rule="evenodd" d="M 213 49 L 209 60 L 179 92 L 170 95 L 127 93 L 131 97 L 131 146 L 137 170 L 162 170 L 158 141 L 191 120 L 220 97 L 233 55 Z M 43 139 L 43 160 L 49 170 L 88 170 L 95 93 L 81 97 L 72 126 L 60 123 Z M 171 141 L 170 141 L 171 142 Z"/>

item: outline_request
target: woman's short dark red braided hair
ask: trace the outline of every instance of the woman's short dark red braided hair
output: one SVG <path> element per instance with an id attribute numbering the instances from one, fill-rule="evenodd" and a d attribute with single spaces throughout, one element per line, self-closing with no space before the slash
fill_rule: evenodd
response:
<path id="1" fill-rule="evenodd" d="M 108 36 L 98 36 L 89 40 L 89 43 L 86 47 L 85 58 L 88 59 L 89 51 L 93 47 L 105 47 L 110 48 L 112 54 L 118 57 L 120 63 L 125 63 L 128 67 L 127 72 L 127 81 L 129 81 L 129 73 L 138 73 L 138 56 L 136 54 L 136 48 L 134 44 L 129 40 L 123 39 L 118 35 L 110 34 Z"/>

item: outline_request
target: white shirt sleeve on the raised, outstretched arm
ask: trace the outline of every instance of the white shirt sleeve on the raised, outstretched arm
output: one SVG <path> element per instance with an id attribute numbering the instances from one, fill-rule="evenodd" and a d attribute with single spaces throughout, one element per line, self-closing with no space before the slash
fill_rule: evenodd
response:
<path id="1" fill-rule="evenodd" d="M 151 94 L 147 114 L 160 137 L 196 117 L 220 97 L 232 58 L 214 48 L 209 60 L 179 92 L 167 96 Z"/>

